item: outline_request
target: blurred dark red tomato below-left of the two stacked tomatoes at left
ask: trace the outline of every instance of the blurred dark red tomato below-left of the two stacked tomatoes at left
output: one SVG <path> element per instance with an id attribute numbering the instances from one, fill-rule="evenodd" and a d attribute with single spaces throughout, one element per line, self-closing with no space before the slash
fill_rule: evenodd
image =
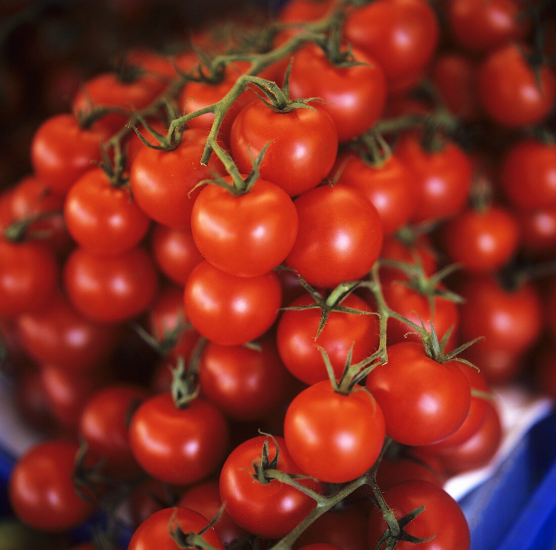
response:
<path id="1" fill-rule="evenodd" d="M 112 326 L 83 318 L 58 292 L 42 309 L 19 316 L 17 328 L 25 350 L 39 363 L 81 372 L 104 358 L 117 336 Z"/>

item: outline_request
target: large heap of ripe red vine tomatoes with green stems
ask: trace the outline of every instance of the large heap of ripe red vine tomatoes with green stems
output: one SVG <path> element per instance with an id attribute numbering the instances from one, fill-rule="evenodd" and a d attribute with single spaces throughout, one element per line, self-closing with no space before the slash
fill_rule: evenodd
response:
<path id="1" fill-rule="evenodd" d="M 101 511 L 80 550 L 122 508 L 130 550 L 469 548 L 442 485 L 497 452 L 491 385 L 556 397 L 554 21 L 291 0 L 85 82 L 0 195 L 2 358 L 49 438 L 17 518 Z"/>

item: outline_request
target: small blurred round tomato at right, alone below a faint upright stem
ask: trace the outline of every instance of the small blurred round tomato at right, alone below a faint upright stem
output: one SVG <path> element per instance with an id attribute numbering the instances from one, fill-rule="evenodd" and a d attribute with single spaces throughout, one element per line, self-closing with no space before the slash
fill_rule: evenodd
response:
<path id="1" fill-rule="evenodd" d="M 444 241 L 450 260 L 466 271 L 493 271 L 517 250 L 519 225 L 508 210 L 497 206 L 464 210 L 444 228 Z"/>

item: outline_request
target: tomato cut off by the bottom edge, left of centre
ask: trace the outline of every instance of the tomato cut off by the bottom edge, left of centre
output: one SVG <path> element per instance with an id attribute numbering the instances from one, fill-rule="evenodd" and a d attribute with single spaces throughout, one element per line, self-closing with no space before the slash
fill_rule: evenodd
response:
<path id="1" fill-rule="evenodd" d="M 207 527 L 209 520 L 188 508 L 165 508 L 147 518 L 131 537 L 128 550 L 175 550 L 171 532 L 179 527 L 183 533 L 200 533 Z M 209 527 L 203 534 L 207 544 L 216 550 L 224 550 L 224 544 L 216 534 L 214 527 Z"/>

